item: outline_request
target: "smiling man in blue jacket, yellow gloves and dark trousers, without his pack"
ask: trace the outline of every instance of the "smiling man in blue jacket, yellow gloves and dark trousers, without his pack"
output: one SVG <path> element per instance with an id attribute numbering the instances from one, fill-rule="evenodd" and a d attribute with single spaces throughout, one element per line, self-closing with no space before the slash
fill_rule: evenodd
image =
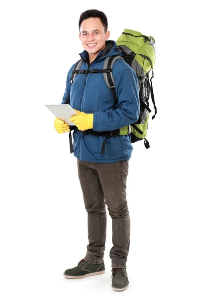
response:
<path id="1" fill-rule="evenodd" d="M 106 57 L 122 55 L 114 41 L 108 40 L 107 18 L 99 10 L 83 12 L 79 20 L 80 40 L 85 49 L 80 56 L 81 70 L 102 69 Z M 118 59 L 113 65 L 117 106 L 102 73 L 77 74 L 71 84 L 71 67 L 67 76 L 62 104 L 70 94 L 70 105 L 76 116 L 70 121 L 76 124 L 74 155 L 77 157 L 85 208 L 88 212 L 87 253 L 78 266 L 64 272 L 66 278 L 83 278 L 105 273 L 103 256 L 106 238 L 106 209 L 112 218 L 112 289 L 123 291 L 128 287 L 126 261 L 130 245 L 130 218 L 126 201 L 126 178 L 132 145 L 130 135 L 96 136 L 94 132 L 111 132 L 138 120 L 138 80 L 132 68 Z M 55 118 L 58 133 L 70 131 L 70 127 Z M 92 133 L 93 132 L 93 133 Z M 106 133 L 105 133 L 106 134 Z M 105 146 L 104 146 L 105 141 Z M 104 153 L 101 148 L 104 146 Z M 105 199 L 105 201 L 104 201 Z"/>

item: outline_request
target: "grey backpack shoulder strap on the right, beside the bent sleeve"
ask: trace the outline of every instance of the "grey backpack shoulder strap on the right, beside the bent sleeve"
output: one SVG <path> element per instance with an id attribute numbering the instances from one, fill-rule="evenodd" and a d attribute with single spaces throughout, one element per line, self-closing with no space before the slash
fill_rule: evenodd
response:
<path id="1" fill-rule="evenodd" d="M 116 97 L 116 94 L 115 94 L 115 81 L 114 81 L 113 74 L 112 74 L 112 67 L 113 67 L 113 64 L 115 63 L 115 61 L 117 59 L 123 59 L 123 57 L 121 57 L 121 56 L 110 56 L 110 57 L 107 57 L 105 59 L 104 63 L 103 63 L 103 69 L 104 70 L 109 70 L 108 72 L 103 73 L 103 78 L 105 80 L 105 83 L 106 83 L 107 87 L 110 88 L 110 90 L 113 93 L 113 97 L 114 97 L 114 105 L 113 105 L 113 108 L 112 108 L 113 110 L 115 109 L 116 104 L 117 104 L 117 97 Z"/>

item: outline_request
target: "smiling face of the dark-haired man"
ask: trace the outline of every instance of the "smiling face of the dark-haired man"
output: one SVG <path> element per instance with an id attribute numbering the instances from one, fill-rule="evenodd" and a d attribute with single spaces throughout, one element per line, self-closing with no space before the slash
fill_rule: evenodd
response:
<path id="1" fill-rule="evenodd" d="M 105 41 L 109 36 L 110 32 L 104 31 L 99 17 L 90 17 L 82 22 L 79 37 L 84 49 L 89 53 L 90 61 L 105 48 Z"/>

